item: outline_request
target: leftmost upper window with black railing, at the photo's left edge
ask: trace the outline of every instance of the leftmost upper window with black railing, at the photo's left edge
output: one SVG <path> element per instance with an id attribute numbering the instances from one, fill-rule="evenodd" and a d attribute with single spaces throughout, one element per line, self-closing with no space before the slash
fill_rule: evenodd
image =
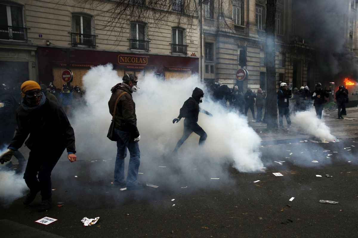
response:
<path id="1" fill-rule="evenodd" d="M 23 7 L 18 4 L 0 4 L 0 39 L 27 40 Z"/>

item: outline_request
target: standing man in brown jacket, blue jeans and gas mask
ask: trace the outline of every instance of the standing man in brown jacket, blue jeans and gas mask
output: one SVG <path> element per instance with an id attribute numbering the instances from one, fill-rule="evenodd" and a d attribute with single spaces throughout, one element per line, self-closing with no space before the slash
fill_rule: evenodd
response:
<path id="1" fill-rule="evenodd" d="M 140 165 L 139 140 L 137 116 L 132 93 L 138 90 L 137 77 L 134 74 L 123 76 L 123 82 L 112 87 L 112 96 L 108 101 L 111 115 L 115 111 L 115 133 L 117 135 L 117 156 L 114 169 L 114 185 L 127 190 L 145 188 L 146 184 L 138 183 L 138 169 Z M 127 181 L 124 180 L 124 158 L 126 148 L 130 153 Z"/>

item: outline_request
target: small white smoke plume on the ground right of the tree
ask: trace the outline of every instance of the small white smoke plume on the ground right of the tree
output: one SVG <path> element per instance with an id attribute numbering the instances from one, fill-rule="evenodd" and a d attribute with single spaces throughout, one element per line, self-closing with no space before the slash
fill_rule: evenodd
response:
<path id="1" fill-rule="evenodd" d="M 297 112 L 292 116 L 292 121 L 297 123 L 304 133 L 320 138 L 321 141 L 333 141 L 335 139 L 324 121 L 316 117 L 314 108 L 308 111 Z"/>

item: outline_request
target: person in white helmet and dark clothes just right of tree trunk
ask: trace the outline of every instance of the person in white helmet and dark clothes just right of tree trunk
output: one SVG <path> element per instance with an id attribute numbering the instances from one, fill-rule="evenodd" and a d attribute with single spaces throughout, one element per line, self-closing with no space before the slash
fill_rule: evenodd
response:
<path id="1" fill-rule="evenodd" d="M 284 115 L 287 121 L 287 127 L 291 127 L 289 99 L 292 97 L 292 90 L 287 89 L 286 83 L 280 84 L 280 90 L 277 91 L 277 107 L 279 107 L 280 128 L 284 128 Z"/>

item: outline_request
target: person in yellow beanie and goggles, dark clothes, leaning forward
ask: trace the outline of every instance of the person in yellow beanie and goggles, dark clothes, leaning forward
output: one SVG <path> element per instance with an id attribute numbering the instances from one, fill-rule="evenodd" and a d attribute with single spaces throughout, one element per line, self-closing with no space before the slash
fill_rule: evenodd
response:
<path id="1" fill-rule="evenodd" d="M 67 148 L 68 160 L 76 161 L 74 132 L 62 108 L 48 100 L 35 81 L 25 81 L 21 85 L 21 106 L 17 109 L 17 128 L 13 140 L 2 155 L 0 163 L 10 161 L 14 152 L 25 142 L 30 149 L 24 179 L 30 192 L 24 204 L 32 203 L 41 192 L 42 202 L 39 212 L 51 206 L 51 172 L 58 159 Z M 51 133 L 48 133 L 51 131 Z"/>

